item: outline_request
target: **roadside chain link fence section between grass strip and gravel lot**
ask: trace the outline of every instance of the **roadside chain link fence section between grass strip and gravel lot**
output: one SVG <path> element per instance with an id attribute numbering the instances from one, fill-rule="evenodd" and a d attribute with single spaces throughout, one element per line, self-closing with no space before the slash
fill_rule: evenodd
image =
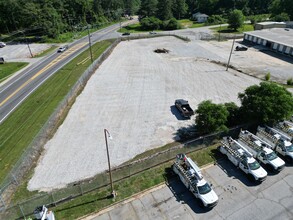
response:
<path id="1" fill-rule="evenodd" d="M 9 198 L 14 193 L 19 182 L 22 181 L 24 175 L 29 169 L 32 168 L 33 164 L 39 158 L 43 146 L 52 137 L 54 131 L 57 129 L 58 125 L 64 118 L 65 113 L 69 110 L 71 104 L 74 102 L 78 94 L 82 91 L 91 75 L 95 72 L 99 65 L 101 65 L 101 63 L 110 55 L 112 50 L 119 42 L 120 39 L 117 39 L 106 51 L 101 54 L 101 56 L 97 60 L 95 60 L 88 67 L 88 69 L 75 83 L 75 85 L 63 99 L 63 101 L 55 109 L 54 113 L 50 116 L 46 124 L 36 135 L 32 143 L 24 150 L 21 158 L 17 161 L 10 173 L 0 185 L 0 212 L 6 208 L 6 204 L 8 203 Z"/>

